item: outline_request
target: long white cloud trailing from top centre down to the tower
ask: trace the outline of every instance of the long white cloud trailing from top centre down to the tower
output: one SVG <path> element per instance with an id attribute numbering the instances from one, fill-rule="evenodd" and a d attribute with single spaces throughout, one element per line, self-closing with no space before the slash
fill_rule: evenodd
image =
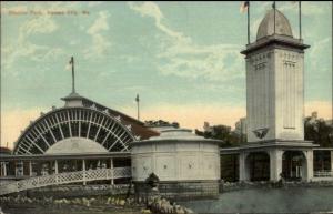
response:
<path id="1" fill-rule="evenodd" d="M 164 75 L 208 80 L 230 80 L 243 77 L 241 47 L 235 44 L 196 44 L 190 37 L 174 31 L 162 23 L 164 16 L 154 2 L 128 3 L 130 9 L 142 17 L 154 19 L 155 27 L 164 33 L 160 37 L 158 70 Z"/>

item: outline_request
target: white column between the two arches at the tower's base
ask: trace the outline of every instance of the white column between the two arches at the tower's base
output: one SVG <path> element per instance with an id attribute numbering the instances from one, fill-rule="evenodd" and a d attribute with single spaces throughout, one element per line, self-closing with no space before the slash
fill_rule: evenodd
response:
<path id="1" fill-rule="evenodd" d="M 270 151 L 270 181 L 278 182 L 282 173 L 282 154 L 283 151 L 272 149 Z"/>

